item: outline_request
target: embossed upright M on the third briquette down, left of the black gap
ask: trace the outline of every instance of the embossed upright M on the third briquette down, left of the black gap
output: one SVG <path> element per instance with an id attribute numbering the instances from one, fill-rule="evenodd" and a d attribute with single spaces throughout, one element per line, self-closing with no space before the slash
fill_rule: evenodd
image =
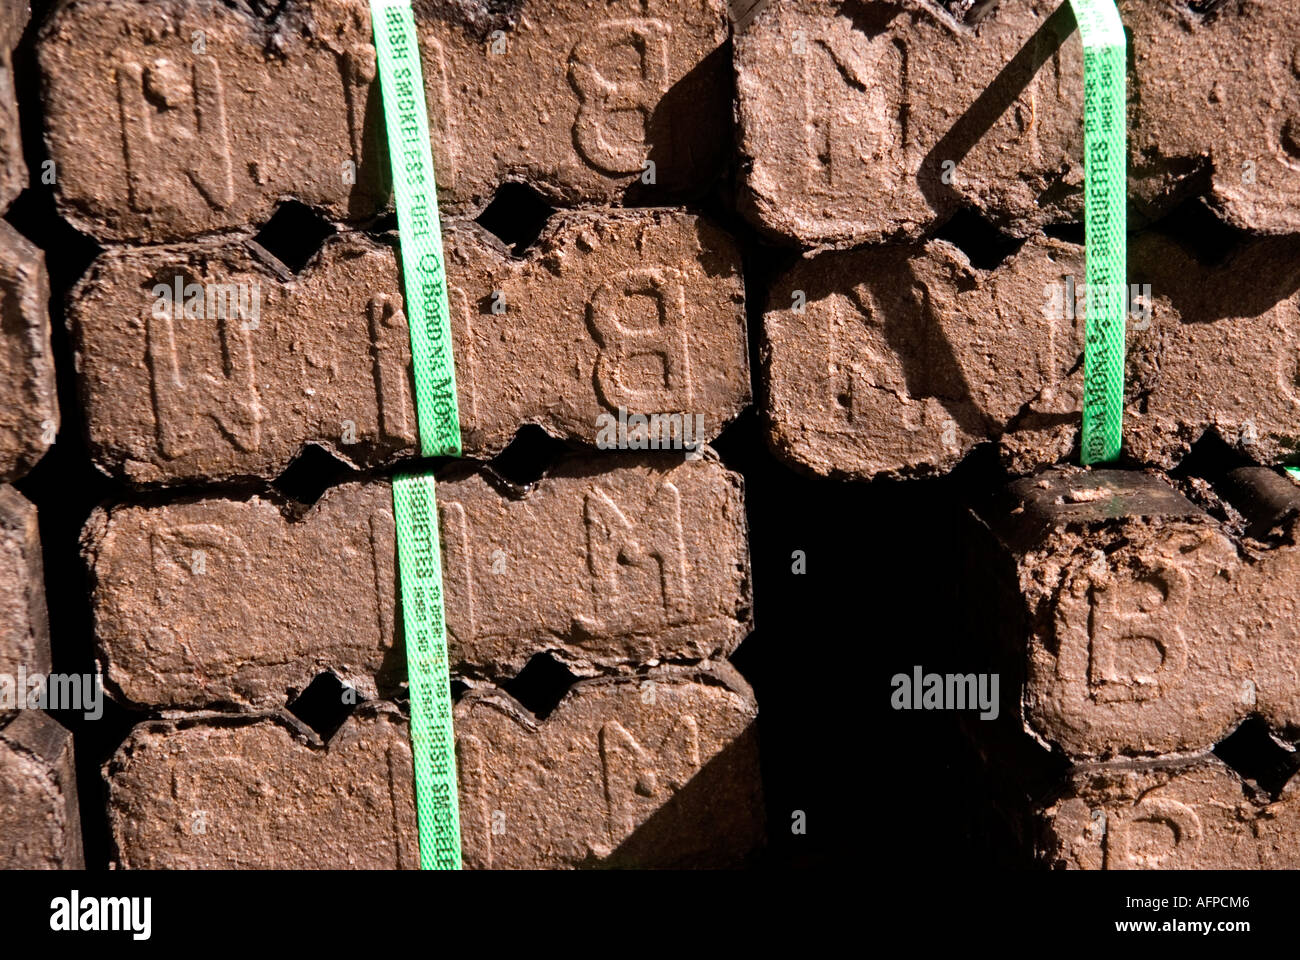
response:
<path id="1" fill-rule="evenodd" d="M 604 635 L 616 628 L 651 626 L 629 622 L 642 618 L 636 615 L 638 604 L 629 602 L 632 598 L 623 583 L 623 571 L 628 567 L 656 567 L 663 604 L 650 614 L 655 620 L 670 624 L 688 620 L 690 596 L 686 592 L 681 493 L 673 484 L 659 487 L 642 511 L 637 528 L 599 487 L 586 494 L 584 520 L 595 604 L 594 619 L 578 618 L 586 631 Z M 640 536 L 634 536 L 638 531 Z"/>

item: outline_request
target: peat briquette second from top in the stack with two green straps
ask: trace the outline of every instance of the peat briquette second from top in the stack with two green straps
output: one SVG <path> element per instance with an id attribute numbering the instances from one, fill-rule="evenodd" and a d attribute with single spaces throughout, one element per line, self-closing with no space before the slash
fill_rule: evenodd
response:
<path id="1" fill-rule="evenodd" d="M 740 255 L 708 222 L 569 212 L 516 259 L 458 221 L 445 250 L 467 457 L 528 423 L 594 444 L 620 407 L 707 441 L 749 405 Z M 274 477 L 309 444 L 358 467 L 417 453 L 389 242 L 338 234 L 298 276 L 239 239 L 118 247 L 69 316 L 92 455 L 131 483 Z"/>

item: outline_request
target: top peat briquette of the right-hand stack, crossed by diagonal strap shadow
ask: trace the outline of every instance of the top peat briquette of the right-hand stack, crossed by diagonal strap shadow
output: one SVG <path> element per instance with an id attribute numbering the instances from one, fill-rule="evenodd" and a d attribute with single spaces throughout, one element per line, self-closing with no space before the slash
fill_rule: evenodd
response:
<path id="1" fill-rule="evenodd" d="M 734 56 L 741 209 L 754 225 L 818 247 L 915 237 L 961 207 L 1022 237 L 1082 220 L 1083 48 L 1070 7 L 979 8 L 965 22 L 923 0 L 792 0 L 754 14 Z M 1214 17 L 1169 0 L 1121 0 L 1119 12 L 1136 78 L 1132 221 L 1204 195 L 1242 229 L 1300 232 L 1290 0 Z"/>

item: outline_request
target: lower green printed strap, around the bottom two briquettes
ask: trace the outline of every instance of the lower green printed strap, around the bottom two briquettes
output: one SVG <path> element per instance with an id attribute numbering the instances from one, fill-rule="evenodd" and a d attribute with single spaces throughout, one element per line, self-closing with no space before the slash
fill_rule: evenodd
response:
<path id="1" fill-rule="evenodd" d="M 411 687 L 411 754 L 420 866 L 460 869 L 460 797 L 456 740 L 451 730 L 447 623 L 442 613 L 442 555 L 433 476 L 393 480 L 398 579 Z"/>

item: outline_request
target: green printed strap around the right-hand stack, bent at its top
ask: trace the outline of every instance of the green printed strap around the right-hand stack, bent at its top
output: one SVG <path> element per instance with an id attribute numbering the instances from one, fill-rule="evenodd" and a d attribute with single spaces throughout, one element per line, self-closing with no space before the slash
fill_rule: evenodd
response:
<path id="1" fill-rule="evenodd" d="M 1070 0 L 1083 38 L 1083 203 L 1087 321 L 1083 462 L 1118 459 L 1124 414 L 1128 208 L 1124 25 L 1114 0 Z"/>

